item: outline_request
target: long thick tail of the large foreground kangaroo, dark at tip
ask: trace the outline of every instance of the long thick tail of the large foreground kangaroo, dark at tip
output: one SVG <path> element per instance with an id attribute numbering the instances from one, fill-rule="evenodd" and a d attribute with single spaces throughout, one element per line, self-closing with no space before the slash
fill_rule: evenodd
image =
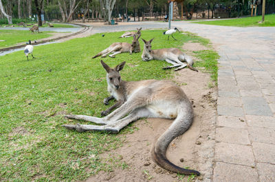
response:
<path id="1" fill-rule="evenodd" d="M 175 164 L 171 163 L 166 157 L 166 149 L 170 142 L 172 142 L 177 136 L 186 132 L 186 130 L 192 124 L 193 114 L 192 106 L 190 102 L 188 104 L 181 103 L 181 110 L 177 115 L 175 121 L 170 127 L 158 138 L 155 146 L 153 147 L 152 155 L 155 162 L 166 170 L 171 172 L 177 172 L 179 174 L 197 174 L 200 173 L 197 170 L 188 170 L 180 168 Z"/>

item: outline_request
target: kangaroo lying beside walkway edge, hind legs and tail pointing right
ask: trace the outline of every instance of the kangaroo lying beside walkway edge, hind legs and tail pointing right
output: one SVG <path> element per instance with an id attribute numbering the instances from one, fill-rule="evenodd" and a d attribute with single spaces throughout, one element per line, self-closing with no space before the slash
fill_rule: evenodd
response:
<path id="1" fill-rule="evenodd" d="M 146 41 L 142 38 L 142 41 L 144 42 L 144 49 L 142 52 L 142 60 L 144 62 L 148 62 L 149 60 L 165 60 L 166 62 L 173 64 L 173 66 L 167 66 L 163 69 L 170 69 L 175 68 L 175 71 L 180 70 L 182 68 L 185 68 L 186 66 L 190 68 L 191 70 L 198 71 L 196 68 L 192 67 L 192 64 L 194 63 L 191 57 L 186 55 L 185 53 L 181 52 L 181 50 L 177 48 L 168 48 L 168 49 L 151 49 L 151 42 L 154 38 L 152 38 L 149 41 Z M 183 62 L 186 62 L 184 64 Z"/>

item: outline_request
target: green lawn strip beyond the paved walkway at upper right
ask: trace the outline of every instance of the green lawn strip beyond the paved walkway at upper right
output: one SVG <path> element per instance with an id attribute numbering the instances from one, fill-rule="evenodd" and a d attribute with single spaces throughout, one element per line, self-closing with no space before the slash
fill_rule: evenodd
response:
<path id="1" fill-rule="evenodd" d="M 192 22 L 206 25 L 222 25 L 233 27 L 274 27 L 275 26 L 275 14 L 265 15 L 265 22 L 259 23 L 262 20 L 262 16 L 253 16 L 246 18 L 236 18 L 224 21 L 201 21 Z"/>

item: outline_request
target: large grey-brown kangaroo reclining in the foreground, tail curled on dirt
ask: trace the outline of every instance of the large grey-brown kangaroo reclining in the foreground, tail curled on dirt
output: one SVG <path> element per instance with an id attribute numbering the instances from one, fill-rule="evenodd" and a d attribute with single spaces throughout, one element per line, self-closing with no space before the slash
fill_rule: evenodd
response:
<path id="1" fill-rule="evenodd" d="M 175 119 L 172 125 L 157 139 L 153 146 L 152 157 L 166 170 L 180 174 L 197 174 L 196 170 L 180 168 L 172 164 L 166 157 L 166 149 L 177 136 L 185 133 L 193 120 L 192 105 L 184 91 L 167 80 L 124 81 L 120 78 L 120 70 L 125 62 L 110 68 L 101 60 L 107 71 L 108 90 L 111 97 L 119 102 L 117 109 L 104 118 L 84 115 L 67 115 L 66 118 L 87 120 L 98 125 L 63 125 L 63 127 L 84 131 L 108 131 L 118 133 L 122 128 L 139 118 Z M 104 99 L 104 102 L 107 101 Z M 102 125 L 102 126 L 99 126 Z"/>

